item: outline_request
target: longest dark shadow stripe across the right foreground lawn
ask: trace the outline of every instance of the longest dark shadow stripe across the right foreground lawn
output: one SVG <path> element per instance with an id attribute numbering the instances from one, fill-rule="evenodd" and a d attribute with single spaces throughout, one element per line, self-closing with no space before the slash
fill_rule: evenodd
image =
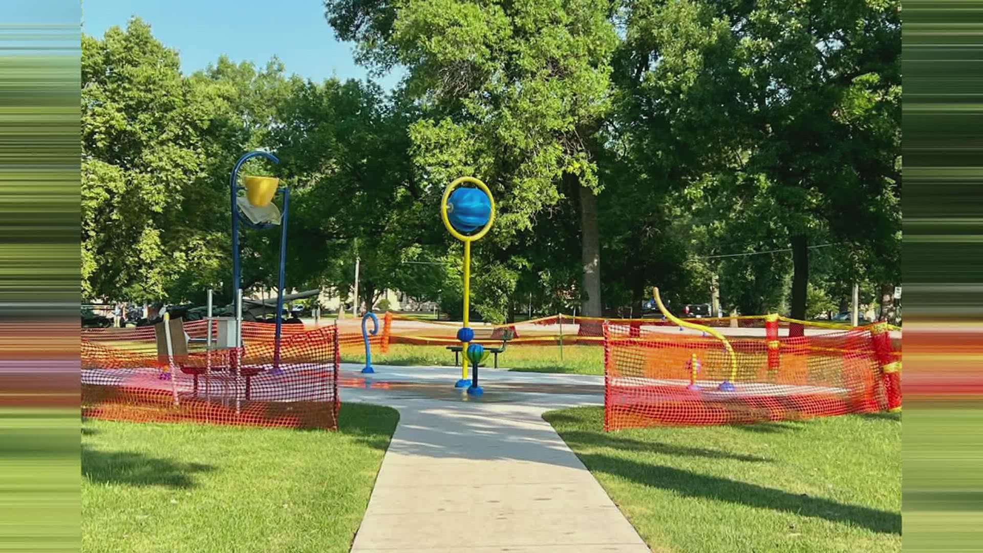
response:
<path id="1" fill-rule="evenodd" d="M 882 533 L 898 535 L 901 533 L 899 513 L 846 505 L 829 499 L 791 494 L 757 484 L 623 458 L 588 454 L 580 456 L 580 459 L 592 470 L 627 478 L 646 486 L 672 490 L 682 496 L 725 501 L 831 522 L 850 523 Z"/>

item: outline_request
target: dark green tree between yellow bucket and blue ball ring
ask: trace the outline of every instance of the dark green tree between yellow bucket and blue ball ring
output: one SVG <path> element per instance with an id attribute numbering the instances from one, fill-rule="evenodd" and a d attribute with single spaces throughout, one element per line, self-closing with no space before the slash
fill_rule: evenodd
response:
<path id="1" fill-rule="evenodd" d="M 358 256 L 362 305 L 391 288 L 435 296 L 401 267 L 434 234 L 421 219 L 423 192 L 408 154 L 407 127 L 416 117 L 411 102 L 386 98 L 371 83 L 291 82 L 271 143 L 280 174 L 295 183 L 289 249 L 291 273 L 301 281 L 347 295 Z"/>

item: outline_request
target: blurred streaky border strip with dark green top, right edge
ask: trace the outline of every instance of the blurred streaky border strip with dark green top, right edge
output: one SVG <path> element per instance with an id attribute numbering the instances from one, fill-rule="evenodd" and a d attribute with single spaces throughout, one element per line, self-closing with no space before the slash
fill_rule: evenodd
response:
<path id="1" fill-rule="evenodd" d="M 983 2 L 904 2 L 904 551 L 983 551 Z"/>

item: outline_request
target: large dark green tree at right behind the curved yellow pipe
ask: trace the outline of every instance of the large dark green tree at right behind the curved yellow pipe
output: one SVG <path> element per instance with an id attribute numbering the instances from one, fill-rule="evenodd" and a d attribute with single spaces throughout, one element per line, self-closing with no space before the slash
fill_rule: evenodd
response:
<path id="1" fill-rule="evenodd" d="M 781 225 L 792 317 L 806 315 L 817 235 L 896 267 L 898 12 L 894 1 L 648 0 L 627 18 L 636 101 L 658 114 L 648 130 L 700 144 L 691 161 L 728 176 L 728 203 Z"/>

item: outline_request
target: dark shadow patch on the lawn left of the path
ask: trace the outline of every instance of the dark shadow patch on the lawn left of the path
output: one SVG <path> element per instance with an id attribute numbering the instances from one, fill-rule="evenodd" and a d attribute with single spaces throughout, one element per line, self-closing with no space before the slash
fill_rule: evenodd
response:
<path id="1" fill-rule="evenodd" d="M 106 452 L 82 447 L 82 474 L 88 481 L 100 484 L 191 488 L 196 485 L 195 473 L 212 470 L 215 470 L 214 466 L 199 462 L 176 462 L 136 452 Z"/>

